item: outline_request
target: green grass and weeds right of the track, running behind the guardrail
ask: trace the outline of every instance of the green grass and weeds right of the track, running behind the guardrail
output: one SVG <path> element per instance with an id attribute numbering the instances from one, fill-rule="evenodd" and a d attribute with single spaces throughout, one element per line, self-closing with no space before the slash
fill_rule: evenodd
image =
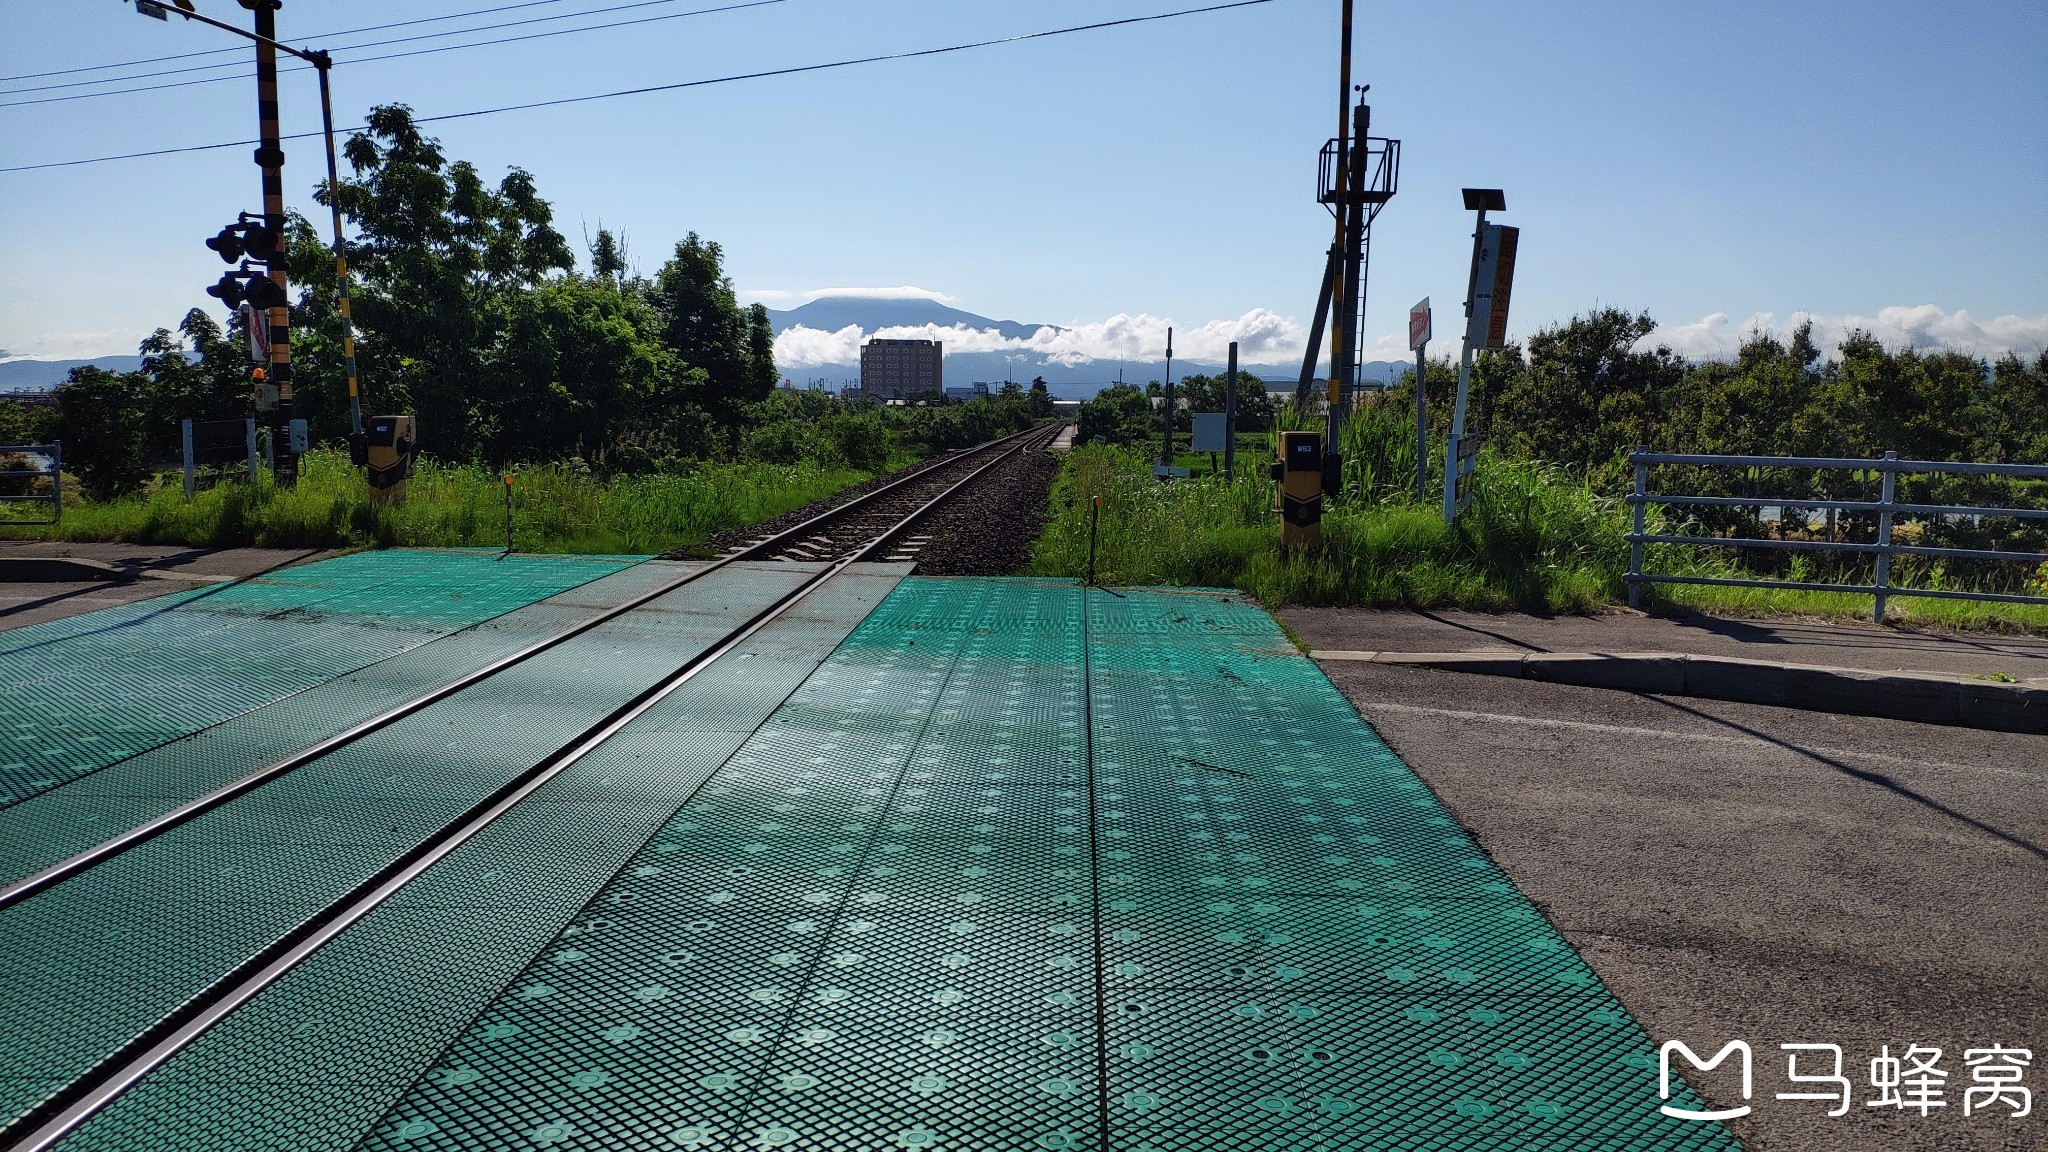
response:
<path id="1" fill-rule="evenodd" d="M 1628 506 L 1546 465 L 1489 453 L 1473 504 L 1454 527 L 1444 525 L 1434 502 L 1417 504 L 1366 478 L 1378 498 L 1325 506 L 1323 547 L 1284 556 L 1274 486 L 1266 478 L 1272 451 L 1239 451 L 1237 459 L 1235 480 L 1198 474 L 1159 484 L 1141 451 L 1073 451 L 1055 482 L 1053 519 L 1038 539 L 1032 572 L 1085 570 L 1087 504 L 1100 494 L 1096 576 L 1104 584 L 1227 586 L 1268 605 L 1534 613 L 1587 613 L 1628 599 Z M 1413 457 L 1384 463 L 1401 476 Z M 1718 549 L 1673 545 L 1655 547 L 1647 568 L 1741 574 Z M 1946 586 L 1939 570 L 1907 560 L 1894 572 L 1903 584 Z M 1839 592 L 1657 586 L 1647 599 L 1667 611 L 1870 619 L 1868 596 Z M 2048 609 L 2030 605 L 1894 599 L 1890 615 L 1919 627 L 2048 631 Z"/>

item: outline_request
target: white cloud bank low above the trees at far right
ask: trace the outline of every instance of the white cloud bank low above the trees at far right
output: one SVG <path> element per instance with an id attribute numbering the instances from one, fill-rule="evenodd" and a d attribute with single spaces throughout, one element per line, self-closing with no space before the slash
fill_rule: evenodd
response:
<path id="1" fill-rule="evenodd" d="M 1812 322 L 1815 342 L 1823 351 L 1833 351 L 1853 332 L 1870 332 L 1886 348 L 1956 351 L 1972 357 L 1997 359 L 2005 353 L 2032 357 L 2048 348 L 2048 314 L 2044 316 L 1997 316 L 1976 320 L 1968 310 L 1944 312 L 1933 303 L 1880 307 L 1876 316 L 1815 316 L 1794 312 L 1778 322 L 1772 312 L 1757 312 L 1733 324 L 1726 312 L 1716 312 L 1694 324 L 1659 326 L 1636 346 L 1669 344 L 1686 359 L 1724 361 L 1733 359 L 1751 332 L 1772 332 L 1784 338 L 1802 322 Z"/>

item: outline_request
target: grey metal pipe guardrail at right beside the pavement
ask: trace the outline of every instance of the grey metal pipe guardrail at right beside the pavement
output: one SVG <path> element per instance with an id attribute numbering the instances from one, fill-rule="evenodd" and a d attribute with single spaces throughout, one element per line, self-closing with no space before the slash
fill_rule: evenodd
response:
<path id="1" fill-rule="evenodd" d="M 1630 504 L 1628 607 L 1640 607 L 1645 584 L 1714 584 L 1722 588 L 1796 588 L 1804 592 L 1853 592 L 1864 596 L 1876 596 L 1876 607 L 1872 609 L 1872 617 L 1876 621 L 1884 621 L 1884 607 L 1890 596 L 1925 596 L 1939 601 L 1995 601 L 2007 605 L 2048 605 L 2048 596 L 2023 596 L 2009 592 L 1954 592 L 1944 588 L 1901 588 L 1892 584 L 1894 556 L 1933 556 L 1950 560 L 2048 564 L 2048 551 L 1927 547 L 1927 545 L 1892 543 L 1892 517 L 1901 512 L 1915 517 L 2015 517 L 2032 521 L 2048 519 L 2048 508 L 1995 508 L 1980 504 L 1901 502 L 1894 500 L 1898 476 L 1950 474 L 1950 476 L 2005 476 L 2013 480 L 2048 480 L 2048 465 L 1898 459 L 1898 453 L 1884 453 L 1882 459 L 1847 459 L 1847 457 L 1796 457 L 1796 455 L 1688 455 L 1688 453 L 1653 453 L 1647 449 L 1630 453 L 1628 463 L 1632 463 L 1636 469 L 1636 486 L 1634 492 L 1628 494 L 1628 504 Z M 1821 498 L 1798 498 L 1798 496 L 1675 496 L 1649 490 L 1651 467 L 1655 465 L 1806 467 L 1806 469 L 1831 469 L 1831 471 L 1876 471 L 1880 480 L 1878 480 L 1876 500 L 1821 500 Z M 1876 512 L 1878 539 L 1876 543 L 1843 543 L 1843 541 L 1821 541 L 1821 539 L 1659 535 L 1659 533 L 1649 533 L 1645 525 L 1651 504 L 1712 506 L 1712 508 L 1806 508 L 1806 510 L 1833 508 L 1843 512 Z M 1751 580 L 1733 576 L 1659 576 L 1642 570 L 1645 543 L 1681 543 L 1700 547 L 1763 547 L 1763 549 L 1837 551 L 1837 553 L 1874 556 L 1876 580 L 1870 584 L 1825 584 L 1815 580 Z"/>

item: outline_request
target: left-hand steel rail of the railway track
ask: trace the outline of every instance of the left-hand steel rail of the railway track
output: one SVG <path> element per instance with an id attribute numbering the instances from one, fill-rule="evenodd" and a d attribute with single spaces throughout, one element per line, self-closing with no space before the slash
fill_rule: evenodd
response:
<path id="1" fill-rule="evenodd" d="M 90 849 L 86 849 L 82 853 L 66 857 L 66 859 L 61 859 L 61 861 L 57 861 L 57 863 L 53 863 L 53 865 L 49 865 L 49 867 L 45 867 L 45 869 L 41 869 L 37 873 L 31 873 L 31 875 L 25 875 L 20 879 L 14 879 L 6 888 L 0 888 L 0 910 L 12 908 L 14 904 L 20 904 L 23 900 L 35 896 L 37 892 L 45 892 L 49 888 L 55 888 L 57 883 L 61 883 L 61 881 L 66 881 L 66 879 L 70 879 L 70 877 L 74 877 L 74 875 L 78 875 L 82 871 L 98 867 L 98 865 L 102 865 L 102 863 L 119 857 L 121 853 L 133 849 L 137 845 L 154 840 L 156 836 L 162 836 L 164 832 L 168 832 L 168 830 L 172 830 L 172 828 L 176 828 L 180 824 L 197 820 L 199 816 L 205 816 L 207 812 L 213 812 L 215 808 L 219 808 L 219 806 L 223 806 L 223 804 L 227 804 L 227 801 L 231 801 L 231 799 L 236 799 L 240 795 L 246 795 L 246 793 L 250 793 L 250 791 L 254 791 L 254 789 L 258 789 L 258 787 L 262 787 L 262 785 L 266 785 L 266 783 L 270 783 L 270 781 L 274 781 L 274 779 L 279 779 L 283 775 L 287 775 L 287 773 L 303 769 L 305 765 L 309 765 L 309 763 L 313 763 L 313 760 L 317 760 L 322 756 L 328 756 L 328 754 L 332 754 L 332 752 L 336 752 L 340 748 L 346 748 L 348 744 L 354 744 L 356 740 L 373 736 L 373 734 L 381 732 L 383 728 L 389 728 L 391 724 L 397 724 L 399 719 L 406 719 L 408 715 L 414 715 L 414 713 L 418 713 L 418 711 L 422 711 L 426 707 L 432 707 L 432 705 L 436 705 L 436 703 L 440 703 L 440 701 L 444 701 L 444 699 L 449 699 L 449 697 L 453 697 L 453 695 L 457 695 L 457 693 L 461 693 L 465 689 L 471 689 L 471 687 L 475 687 L 475 685 L 479 685 L 479 683 L 496 676 L 498 672 L 504 672 L 506 668 L 522 664 L 522 662 L 526 662 L 526 660 L 530 660 L 530 658 L 535 658 L 535 656 L 539 656 L 543 652 L 549 652 L 549 650 L 553 650 L 553 648 L 557 648 L 561 644 L 567 644 L 569 640 L 575 640 L 578 635 L 584 635 L 586 631 L 590 631 L 590 629 L 594 629 L 598 625 L 610 623 L 610 621 L 614 621 L 614 619 L 618 619 L 618 617 L 623 617 L 623 615 L 627 615 L 631 611 L 637 611 L 637 609 L 649 605 L 651 601 L 657 601 L 657 599 L 674 592 L 676 588 L 682 588 L 684 584 L 702 580 L 705 576 L 711 576 L 713 572 L 719 572 L 719 570 L 727 568 L 729 564 L 739 564 L 739 562 L 745 562 L 745 560 L 756 560 L 762 549 L 774 551 L 776 547 L 786 547 L 788 543 L 801 541 L 809 533 L 815 533 L 821 525 L 836 523 L 838 519 L 842 519 L 848 508 L 866 506 L 866 504 L 870 504 L 870 502 L 874 502 L 879 498 L 885 498 L 885 496 L 889 496 L 889 494 L 893 494 L 893 492 L 897 492 L 901 488 L 907 488 L 909 484 L 913 484 L 918 480 L 928 478 L 932 471 L 936 471 L 940 467 L 948 467 L 952 463 L 958 463 L 958 461 L 965 461 L 965 459 L 973 459 L 975 453 L 991 451 L 995 447 L 1001 447 L 1006 443 L 1012 443 L 1012 441 L 1016 441 L 1020 437 L 1026 437 L 1030 433 L 1036 433 L 1036 430 L 1038 428 L 1030 428 L 1026 433 L 1020 433 L 1018 437 L 1004 437 L 999 441 L 989 441 L 987 445 L 979 445 L 975 449 L 967 449 L 963 453 L 954 453 L 954 455 L 950 455 L 946 459 L 940 459 L 936 463 L 930 463 L 926 467 L 909 471 L 907 476 L 899 476 L 899 478 L 891 480 L 889 484 L 885 484 L 885 486 L 881 486 L 881 488 L 877 488 L 872 492 L 864 492 L 864 494 L 856 496 L 854 500 L 848 500 L 846 504 L 840 504 L 838 508 L 829 508 L 825 512 L 819 512 L 817 517 L 811 517 L 811 519 L 803 521 L 801 525 L 795 525 L 791 529 L 774 533 L 772 537 L 764 539 L 758 545 L 750 545 L 750 547 L 739 549 L 739 551 L 735 551 L 731 556 L 719 558 L 713 564 L 707 564 L 705 568 L 698 568 L 694 572 L 686 572 L 686 574 L 678 576 L 676 580 L 668 580 L 666 584 L 659 584 L 657 588 L 649 588 L 647 592 L 641 592 L 641 594 L 637 594 L 637 596 L 633 596 L 633 599 L 629 599 L 629 601 L 625 601 L 625 603 L 621 603 L 616 607 L 604 609 L 602 613 L 598 613 L 598 615 L 594 615 L 594 617 L 590 617 L 590 619 L 586 619 L 586 621 L 582 621 L 578 625 L 571 625 L 571 627 L 567 627 L 563 631 L 557 631 L 557 633 L 553 633 L 549 637 L 537 640 L 537 642 L 528 644 L 526 648 L 520 648 L 518 652 L 510 652 L 506 656 L 500 656 L 498 660 L 492 660 L 489 664 L 483 664 L 481 668 L 465 672 L 465 674 L 457 676 L 455 681 L 449 681 L 446 685 L 436 687 L 430 693 L 418 695 L 418 697 L 414 697 L 414 699 L 410 699 L 406 703 L 389 707 L 389 709 L 385 709 L 385 711 L 381 711 L 381 713 L 377 713 L 377 715 L 373 715 L 369 719 L 362 719 L 362 722 L 358 722 L 358 724 L 354 724 L 354 726 L 350 726 L 350 728 L 346 728 L 342 732 L 336 732 L 334 736 L 328 736 L 326 740 L 319 740 L 317 744 L 309 744 L 307 748 L 301 748 L 301 750 L 297 750 L 297 752 L 293 752 L 293 754 L 289 754 L 285 758 L 272 760 L 272 763 L 256 769 L 254 773 L 250 773 L 246 777 L 233 779 L 229 783 L 223 783 L 221 787 L 215 787 L 213 791 L 197 795 L 197 797 L 180 804 L 178 808 L 172 808 L 170 812 L 164 812 L 162 816 L 154 816 L 154 818 L 150 818 L 150 820 L 145 820 L 145 822 L 129 828 L 127 832 L 111 836 L 111 838 L 106 838 L 106 840 L 102 840 L 102 842 L 98 842 L 98 845 L 94 845 L 94 847 L 90 847 Z"/>

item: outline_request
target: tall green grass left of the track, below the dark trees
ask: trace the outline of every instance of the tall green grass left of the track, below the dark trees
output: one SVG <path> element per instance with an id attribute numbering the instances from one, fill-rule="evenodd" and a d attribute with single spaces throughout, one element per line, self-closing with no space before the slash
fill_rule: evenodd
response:
<path id="1" fill-rule="evenodd" d="M 643 556 L 829 496 L 868 474 L 817 463 L 707 463 L 680 476 L 598 480 L 567 465 L 520 469 L 512 543 L 520 551 Z M 53 527 L 0 539 L 133 541 L 188 547 L 504 547 L 504 482 L 481 467 L 420 461 L 403 504 L 373 504 L 346 453 L 303 457 L 299 484 L 223 482 L 184 498 L 176 476 L 109 502 L 68 496 Z"/>

